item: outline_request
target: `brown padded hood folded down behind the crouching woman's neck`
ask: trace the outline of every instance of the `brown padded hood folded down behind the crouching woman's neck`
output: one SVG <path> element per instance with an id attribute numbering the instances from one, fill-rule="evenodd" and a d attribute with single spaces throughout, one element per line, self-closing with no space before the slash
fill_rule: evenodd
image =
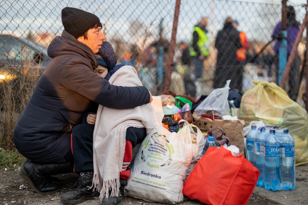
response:
<path id="1" fill-rule="evenodd" d="M 47 54 L 54 58 L 60 55 L 76 55 L 78 53 L 82 57 L 88 59 L 93 67 L 97 68 L 98 63 L 95 59 L 93 51 L 75 37 L 63 30 L 62 36 L 55 37 L 48 46 Z"/>

